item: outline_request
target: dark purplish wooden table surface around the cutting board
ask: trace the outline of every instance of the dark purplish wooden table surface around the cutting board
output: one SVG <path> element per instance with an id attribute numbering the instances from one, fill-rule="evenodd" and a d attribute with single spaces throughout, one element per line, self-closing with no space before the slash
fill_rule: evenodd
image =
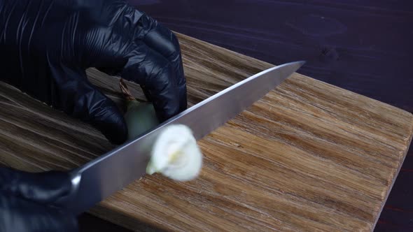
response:
<path id="1" fill-rule="evenodd" d="M 129 0 L 170 29 L 413 113 L 413 2 Z M 413 231 L 413 149 L 375 231 Z M 90 215 L 81 231 L 127 231 Z"/>

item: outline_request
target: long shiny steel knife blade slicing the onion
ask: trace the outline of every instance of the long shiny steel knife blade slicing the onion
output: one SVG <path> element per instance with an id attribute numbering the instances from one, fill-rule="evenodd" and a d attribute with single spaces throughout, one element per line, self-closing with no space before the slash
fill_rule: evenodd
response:
<path id="1" fill-rule="evenodd" d="M 152 145 L 166 126 L 184 124 L 200 140 L 253 105 L 303 64 L 304 61 L 283 64 L 246 78 L 172 117 L 143 136 L 74 169 L 70 172 L 71 193 L 61 198 L 56 205 L 76 215 L 88 210 L 146 174 Z"/>

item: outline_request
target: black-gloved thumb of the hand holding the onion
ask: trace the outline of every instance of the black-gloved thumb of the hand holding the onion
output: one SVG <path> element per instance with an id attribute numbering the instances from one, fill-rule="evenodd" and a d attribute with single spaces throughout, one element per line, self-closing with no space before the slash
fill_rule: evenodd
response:
<path id="1" fill-rule="evenodd" d="M 55 80 L 60 81 L 57 85 L 59 101 L 55 106 L 91 124 L 111 143 L 124 143 L 127 126 L 116 104 L 87 80 L 85 71 L 62 66 L 53 68 Z"/>

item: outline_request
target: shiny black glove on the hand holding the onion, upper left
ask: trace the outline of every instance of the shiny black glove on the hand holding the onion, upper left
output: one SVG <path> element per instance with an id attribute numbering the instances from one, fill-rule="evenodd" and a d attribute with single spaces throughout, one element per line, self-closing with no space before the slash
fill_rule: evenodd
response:
<path id="1" fill-rule="evenodd" d="M 126 1 L 0 0 L 0 59 L 0 80 L 112 143 L 125 142 L 125 121 L 86 68 L 137 82 L 161 122 L 187 107 L 176 36 Z"/>

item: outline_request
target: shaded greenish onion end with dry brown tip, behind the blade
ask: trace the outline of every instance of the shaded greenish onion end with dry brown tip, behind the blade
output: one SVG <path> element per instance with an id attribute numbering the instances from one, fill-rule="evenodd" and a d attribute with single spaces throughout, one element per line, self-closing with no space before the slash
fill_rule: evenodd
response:
<path id="1" fill-rule="evenodd" d="M 120 89 L 126 99 L 127 110 L 125 122 L 127 125 L 127 139 L 132 140 L 154 129 L 160 124 L 152 103 L 139 102 L 130 93 L 123 79 L 120 79 Z"/>

